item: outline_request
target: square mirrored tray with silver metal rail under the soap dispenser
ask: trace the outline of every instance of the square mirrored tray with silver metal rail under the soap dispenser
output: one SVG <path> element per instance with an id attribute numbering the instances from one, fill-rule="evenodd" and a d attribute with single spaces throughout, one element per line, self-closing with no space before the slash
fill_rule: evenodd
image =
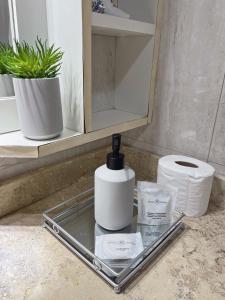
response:
<path id="1" fill-rule="evenodd" d="M 174 212 L 168 225 L 138 224 L 137 199 L 134 199 L 132 223 L 120 231 L 105 230 L 97 225 L 94 219 L 94 189 L 47 210 L 43 216 L 44 227 L 113 286 L 117 293 L 154 259 L 169 240 L 184 229 L 181 222 L 184 215 L 179 212 Z M 95 255 L 96 236 L 136 232 L 141 233 L 143 251 L 134 259 L 102 260 Z"/>

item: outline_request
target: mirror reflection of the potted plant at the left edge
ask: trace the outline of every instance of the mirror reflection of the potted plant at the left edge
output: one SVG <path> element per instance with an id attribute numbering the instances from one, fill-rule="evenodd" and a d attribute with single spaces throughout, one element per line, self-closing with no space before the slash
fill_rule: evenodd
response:
<path id="1" fill-rule="evenodd" d="M 0 97 L 9 97 L 14 95 L 12 78 L 6 67 L 9 57 L 13 56 L 13 48 L 0 42 Z"/>

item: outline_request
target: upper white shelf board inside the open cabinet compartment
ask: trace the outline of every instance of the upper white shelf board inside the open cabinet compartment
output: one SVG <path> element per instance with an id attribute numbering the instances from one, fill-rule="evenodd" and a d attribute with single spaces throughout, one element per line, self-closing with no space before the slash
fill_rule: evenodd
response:
<path id="1" fill-rule="evenodd" d="M 92 32 L 112 36 L 154 35 L 155 25 L 107 14 L 92 13 Z"/>

